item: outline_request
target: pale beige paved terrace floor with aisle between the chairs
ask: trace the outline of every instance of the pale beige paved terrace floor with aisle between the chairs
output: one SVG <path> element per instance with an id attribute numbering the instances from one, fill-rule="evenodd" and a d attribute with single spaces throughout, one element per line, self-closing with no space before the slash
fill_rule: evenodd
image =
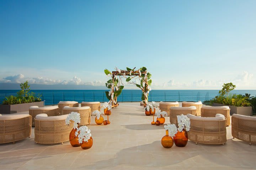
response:
<path id="1" fill-rule="evenodd" d="M 28 113 L 28 112 L 27 112 Z M 102 112 L 103 113 L 103 112 Z M 106 119 L 106 115 L 103 115 Z M 143 107 L 120 103 L 112 109 L 110 125 L 90 125 L 92 148 L 83 150 L 63 145 L 43 145 L 31 138 L 0 145 L 0 169 L 255 169 L 256 145 L 233 139 L 227 127 L 227 142 L 222 145 L 196 145 L 184 148 L 161 146 L 164 125 L 151 125 Z M 166 123 L 169 118 L 166 117 Z"/>

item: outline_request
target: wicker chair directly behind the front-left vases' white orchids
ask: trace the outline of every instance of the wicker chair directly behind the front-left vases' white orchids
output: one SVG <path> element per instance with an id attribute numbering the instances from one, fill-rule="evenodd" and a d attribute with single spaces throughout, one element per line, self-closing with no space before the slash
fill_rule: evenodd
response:
<path id="1" fill-rule="evenodd" d="M 63 108 L 63 114 L 69 114 L 71 112 L 80 113 L 80 118 L 81 118 L 81 122 L 79 123 L 80 126 L 88 125 L 91 123 L 91 108 L 89 106 L 84 106 L 84 107 L 65 106 Z"/>

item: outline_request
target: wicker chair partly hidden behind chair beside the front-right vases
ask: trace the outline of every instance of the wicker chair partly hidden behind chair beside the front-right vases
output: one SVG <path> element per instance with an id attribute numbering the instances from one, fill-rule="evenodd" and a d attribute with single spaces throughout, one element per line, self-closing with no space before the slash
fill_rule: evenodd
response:
<path id="1" fill-rule="evenodd" d="M 216 114 L 223 114 L 226 118 L 226 126 L 230 125 L 230 108 L 228 106 L 202 106 L 201 108 L 202 117 L 215 117 Z"/>

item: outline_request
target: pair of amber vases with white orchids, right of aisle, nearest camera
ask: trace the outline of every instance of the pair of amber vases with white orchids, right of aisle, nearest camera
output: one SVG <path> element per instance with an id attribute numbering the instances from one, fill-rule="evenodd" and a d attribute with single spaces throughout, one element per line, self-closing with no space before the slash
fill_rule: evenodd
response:
<path id="1" fill-rule="evenodd" d="M 175 124 L 164 126 L 166 135 L 162 137 L 161 144 L 165 148 L 171 148 L 173 143 L 177 147 L 185 147 L 188 142 L 187 131 L 190 130 L 190 119 L 186 115 L 178 115 L 178 128 Z"/>

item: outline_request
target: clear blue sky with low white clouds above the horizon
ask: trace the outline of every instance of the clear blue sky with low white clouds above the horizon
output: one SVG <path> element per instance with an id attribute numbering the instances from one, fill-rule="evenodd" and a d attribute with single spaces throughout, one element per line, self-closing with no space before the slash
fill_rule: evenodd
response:
<path id="1" fill-rule="evenodd" d="M 256 89 L 255 0 L 0 0 L 0 89 L 102 89 L 146 67 L 151 88 Z M 51 85 L 51 86 L 49 86 Z M 125 85 L 125 89 L 136 89 Z"/>

